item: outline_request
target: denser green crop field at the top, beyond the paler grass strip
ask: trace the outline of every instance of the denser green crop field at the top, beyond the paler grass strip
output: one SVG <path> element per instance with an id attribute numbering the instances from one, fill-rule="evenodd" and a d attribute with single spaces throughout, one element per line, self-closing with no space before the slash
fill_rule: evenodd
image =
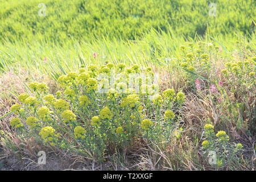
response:
<path id="1" fill-rule="evenodd" d="M 197 35 L 230 34 L 230 30 L 251 35 L 255 31 L 253 1 L 110 0 L 43 1 L 46 16 L 39 16 L 40 0 L 1 0 L 0 39 L 93 40 L 103 37 L 135 39 L 148 30 Z M 209 4 L 216 3 L 216 16 L 209 16 Z M 207 28 L 208 27 L 208 28 Z"/>

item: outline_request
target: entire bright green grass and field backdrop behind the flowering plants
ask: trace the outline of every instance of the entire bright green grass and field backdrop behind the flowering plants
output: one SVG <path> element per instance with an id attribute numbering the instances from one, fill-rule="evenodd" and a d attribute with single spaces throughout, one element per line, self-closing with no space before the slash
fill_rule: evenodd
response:
<path id="1" fill-rule="evenodd" d="M 39 16 L 46 5 L 46 16 Z M 209 4 L 216 3 L 216 16 Z M 255 51 L 255 1 L 0 0 L 0 72 L 24 68 L 57 75 L 106 60 L 175 64 L 184 42 Z M 92 56 L 97 53 L 97 58 Z M 43 60 L 47 59 L 47 63 Z M 170 63 L 172 62 L 172 63 Z"/>

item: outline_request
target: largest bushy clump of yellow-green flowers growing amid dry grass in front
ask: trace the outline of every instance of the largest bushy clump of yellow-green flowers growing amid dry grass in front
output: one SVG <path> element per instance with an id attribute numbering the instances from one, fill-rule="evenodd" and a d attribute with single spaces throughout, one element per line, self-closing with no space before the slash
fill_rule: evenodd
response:
<path id="1" fill-rule="evenodd" d="M 31 94 L 20 94 L 11 106 L 10 126 L 46 145 L 96 158 L 138 139 L 170 141 L 182 133 L 185 94 L 169 88 L 162 94 L 153 80 L 152 68 L 108 63 L 60 76 L 54 93 L 31 82 Z"/>

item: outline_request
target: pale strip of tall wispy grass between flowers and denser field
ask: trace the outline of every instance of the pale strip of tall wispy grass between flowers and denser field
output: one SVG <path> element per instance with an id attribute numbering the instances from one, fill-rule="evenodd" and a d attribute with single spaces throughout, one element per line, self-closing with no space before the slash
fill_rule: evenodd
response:
<path id="1" fill-rule="evenodd" d="M 237 44 L 239 41 L 239 46 Z M 219 54 L 230 59 L 235 50 L 246 45 L 246 53 L 256 52 L 255 34 L 251 36 L 197 36 L 185 39 L 182 35 L 156 31 L 144 35 L 140 40 L 102 39 L 93 42 L 67 40 L 60 43 L 47 42 L 6 42 L 0 44 L 0 72 L 15 71 L 23 68 L 27 72 L 37 74 L 48 73 L 54 78 L 69 71 L 76 71 L 84 64 L 125 63 L 127 65 L 139 64 L 154 67 L 172 67 L 180 56 L 179 47 L 185 42 L 212 43 L 222 48 Z M 241 47 L 242 45 L 242 47 Z M 244 51 L 244 50 L 240 50 Z M 97 57 L 93 57 L 93 53 Z M 250 55 L 253 57 L 254 55 Z M 46 61 L 45 61 L 46 60 Z M 53 74 L 53 75 L 52 75 Z"/>

